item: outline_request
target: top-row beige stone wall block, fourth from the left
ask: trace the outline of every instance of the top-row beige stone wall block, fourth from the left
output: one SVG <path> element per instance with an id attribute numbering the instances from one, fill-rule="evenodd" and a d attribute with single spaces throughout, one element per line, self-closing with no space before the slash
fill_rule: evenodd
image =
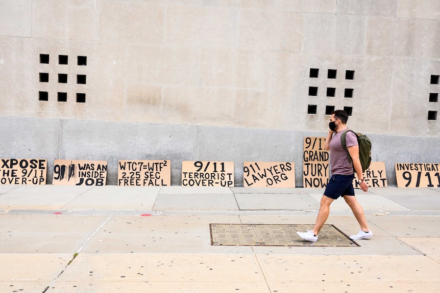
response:
<path id="1" fill-rule="evenodd" d="M 237 17 L 236 9 L 167 6 L 164 43 L 235 47 Z"/>

